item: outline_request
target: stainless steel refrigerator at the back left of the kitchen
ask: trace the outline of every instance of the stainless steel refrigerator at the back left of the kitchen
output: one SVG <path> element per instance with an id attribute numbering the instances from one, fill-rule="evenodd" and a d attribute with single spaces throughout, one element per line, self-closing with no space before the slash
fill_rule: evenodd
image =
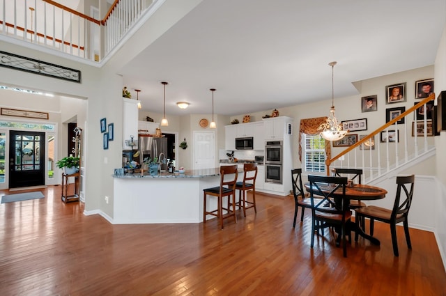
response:
<path id="1" fill-rule="evenodd" d="M 139 163 L 142 163 L 145 157 L 160 158 L 161 153 L 165 159 L 170 159 L 167 150 L 167 138 L 164 137 L 149 137 L 146 135 L 139 135 L 138 137 Z M 167 164 L 161 165 L 162 170 L 167 169 Z"/>

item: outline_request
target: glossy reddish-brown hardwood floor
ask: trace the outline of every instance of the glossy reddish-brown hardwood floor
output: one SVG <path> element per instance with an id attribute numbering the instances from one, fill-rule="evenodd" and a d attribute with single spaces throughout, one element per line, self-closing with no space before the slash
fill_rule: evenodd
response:
<path id="1" fill-rule="evenodd" d="M 291 196 L 256 194 L 257 214 L 220 230 L 216 219 L 112 225 L 63 203 L 61 186 L 38 190 L 0 204 L 0 295 L 446 295 L 433 233 L 410 229 L 409 251 L 399 226 L 397 258 L 376 222 L 380 247 L 360 238 L 343 258 L 329 231 L 309 247 L 309 210 L 293 229 Z"/>

